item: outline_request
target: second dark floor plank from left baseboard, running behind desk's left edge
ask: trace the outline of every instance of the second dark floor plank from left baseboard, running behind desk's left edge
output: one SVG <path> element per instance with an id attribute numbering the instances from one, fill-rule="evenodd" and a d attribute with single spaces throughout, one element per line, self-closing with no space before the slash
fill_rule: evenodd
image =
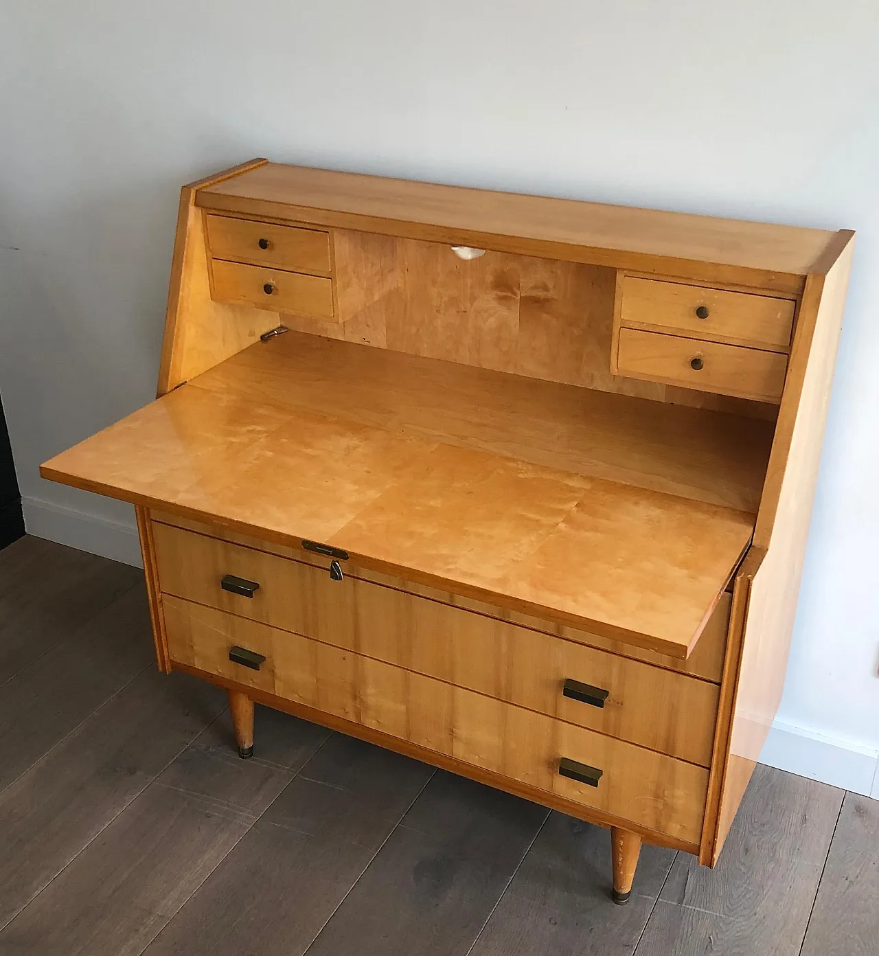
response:
<path id="1" fill-rule="evenodd" d="M 148 667 L 155 667 L 142 585 L 0 687 L 0 790 Z"/>

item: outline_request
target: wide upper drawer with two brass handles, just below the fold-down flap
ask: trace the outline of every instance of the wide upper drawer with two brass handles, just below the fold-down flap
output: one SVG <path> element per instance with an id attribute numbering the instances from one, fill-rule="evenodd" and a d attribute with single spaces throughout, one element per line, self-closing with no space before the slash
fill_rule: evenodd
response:
<path id="1" fill-rule="evenodd" d="M 351 575 L 334 581 L 298 561 L 153 528 L 165 594 L 710 764 L 715 684 Z M 229 574 L 258 583 L 253 597 L 224 591 L 220 582 Z"/>

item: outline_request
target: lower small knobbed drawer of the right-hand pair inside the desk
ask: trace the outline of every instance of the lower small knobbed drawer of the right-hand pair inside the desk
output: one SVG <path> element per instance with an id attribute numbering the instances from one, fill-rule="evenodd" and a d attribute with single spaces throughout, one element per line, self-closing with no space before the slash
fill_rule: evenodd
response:
<path id="1" fill-rule="evenodd" d="M 738 345 L 620 329 L 617 371 L 635 379 L 778 402 L 784 389 L 787 356 Z"/>

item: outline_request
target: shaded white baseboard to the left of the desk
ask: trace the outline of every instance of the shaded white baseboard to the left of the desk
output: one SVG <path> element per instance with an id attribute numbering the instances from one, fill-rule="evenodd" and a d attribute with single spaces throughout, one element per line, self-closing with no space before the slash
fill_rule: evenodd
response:
<path id="1" fill-rule="evenodd" d="M 134 525 L 51 505 L 37 498 L 22 498 L 25 530 L 35 537 L 57 541 L 80 551 L 100 554 L 136 568 L 143 567 L 138 530 Z"/>

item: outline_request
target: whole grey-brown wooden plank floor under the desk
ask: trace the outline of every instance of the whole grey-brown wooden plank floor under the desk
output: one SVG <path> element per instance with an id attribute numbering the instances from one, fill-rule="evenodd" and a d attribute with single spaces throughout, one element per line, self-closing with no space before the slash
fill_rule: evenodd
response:
<path id="1" fill-rule="evenodd" d="M 714 871 L 156 671 L 140 573 L 0 552 L 0 956 L 867 956 L 879 802 L 759 767 Z"/>

